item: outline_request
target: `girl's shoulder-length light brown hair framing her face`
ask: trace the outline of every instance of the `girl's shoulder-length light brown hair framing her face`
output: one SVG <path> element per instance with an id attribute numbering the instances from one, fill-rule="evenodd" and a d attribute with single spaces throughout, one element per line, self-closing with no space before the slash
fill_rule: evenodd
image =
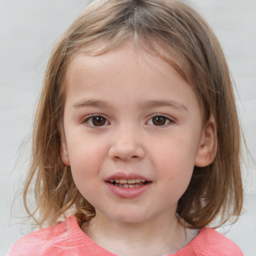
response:
<path id="1" fill-rule="evenodd" d="M 41 226 L 69 214 L 76 214 L 80 222 L 94 215 L 93 206 L 77 190 L 70 167 L 61 161 L 62 82 L 75 53 L 100 54 L 128 38 L 163 59 L 156 41 L 181 56 L 182 66 L 171 64 L 193 85 L 204 123 L 210 115 L 216 120 L 216 157 L 206 167 L 194 167 L 177 213 L 196 228 L 208 225 L 218 215 L 220 223 L 230 215 L 238 216 L 242 205 L 240 130 L 228 66 L 211 28 L 180 0 L 94 1 L 58 40 L 47 65 L 33 126 L 31 163 L 23 193 L 29 216 Z M 29 211 L 31 187 L 35 208 Z"/>

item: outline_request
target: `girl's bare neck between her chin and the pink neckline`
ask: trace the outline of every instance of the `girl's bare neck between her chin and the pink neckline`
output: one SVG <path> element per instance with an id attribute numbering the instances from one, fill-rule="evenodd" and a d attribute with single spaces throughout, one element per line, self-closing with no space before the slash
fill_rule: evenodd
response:
<path id="1" fill-rule="evenodd" d="M 138 223 L 118 222 L 96 212 L 82 224 L 82 230 L 103 248 L 122 256 L 175 253 L 187 243 L 184 226 L 169 211 Z"/>

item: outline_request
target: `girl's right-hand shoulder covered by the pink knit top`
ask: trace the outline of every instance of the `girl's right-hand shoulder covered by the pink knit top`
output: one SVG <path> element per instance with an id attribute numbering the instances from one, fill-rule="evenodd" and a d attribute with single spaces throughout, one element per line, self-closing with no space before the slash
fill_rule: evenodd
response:
<path id="1" fill-rule="evenodd" d="M 177 255 L 243 256 L 242 251 L 233 241 L 209 227 L 202 228 L 180 252 Z"/>

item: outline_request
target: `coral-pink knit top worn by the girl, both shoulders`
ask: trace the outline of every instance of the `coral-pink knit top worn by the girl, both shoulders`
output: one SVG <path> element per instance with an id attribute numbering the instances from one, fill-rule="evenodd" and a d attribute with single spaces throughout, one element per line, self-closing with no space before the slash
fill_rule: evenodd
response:
<path id="1" fill-rule="evenodd" d="M 31 232 L 16 241 L 8 256 L 117 256 L 100 247 L 79 227 L 74 216 Z M 174 256 L 242 256 L 239 247 L 216 230 L 204 227 Z M 166 255 L 167 256 L 167 255 Z"/>

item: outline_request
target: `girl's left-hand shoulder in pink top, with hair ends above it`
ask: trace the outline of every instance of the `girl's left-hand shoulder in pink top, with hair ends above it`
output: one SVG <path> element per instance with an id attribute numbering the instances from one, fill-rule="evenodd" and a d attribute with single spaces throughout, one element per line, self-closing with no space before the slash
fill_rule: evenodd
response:
<path id="1" fill-rule="evenodd" d="M 74 216 L 65 221 L 31 232 L 17 240 L 8 256 L 114 256 L 91 240 Z"/>

